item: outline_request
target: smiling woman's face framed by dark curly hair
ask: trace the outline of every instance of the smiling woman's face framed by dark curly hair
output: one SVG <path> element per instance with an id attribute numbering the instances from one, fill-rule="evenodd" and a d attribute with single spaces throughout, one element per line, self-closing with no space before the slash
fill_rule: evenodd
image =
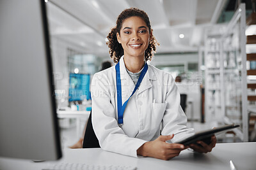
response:
<path id="1" fill-rule="evenodd" d="M 119 43 L 124 48 L 125 57 L 143 57 L 148 47 L 150 33 L 145 21 L 140 17 L 126 18 L 116 33 Z"/>

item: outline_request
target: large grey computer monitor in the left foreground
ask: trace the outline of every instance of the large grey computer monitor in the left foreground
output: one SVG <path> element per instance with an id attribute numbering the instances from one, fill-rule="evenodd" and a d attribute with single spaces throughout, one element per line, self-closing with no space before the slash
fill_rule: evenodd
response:
<path id="1" fill-rule="evenodd" d="M 60 159 L 45 2 L 0 1 L 0 39 L 0 157 Z"/>

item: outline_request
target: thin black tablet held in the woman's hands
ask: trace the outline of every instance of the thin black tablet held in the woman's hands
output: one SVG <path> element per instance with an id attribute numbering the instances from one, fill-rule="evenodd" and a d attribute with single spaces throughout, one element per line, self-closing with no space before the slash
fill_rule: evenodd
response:
<path id="1" fill-rule="evenodd" d="M 223 132 L 229 129 L 234 129 L 236 127 L 239 127 L 239 125 L 223 125 L 221 127 L 216 127 L 214 129 L 209 129 L 206 131 L 200 131 L 196 132 L 193 136 L 190 136 L 189 138 L 182 139 L 181 141 L 177 141 L 176 143 L 180 143 L 183 145 L 189 145 L 191 143 L 196 143 L 196 141 L 204 141 L 208 145 L 211 143 L 211 136 L 214 135 L 217 132 Z"/>

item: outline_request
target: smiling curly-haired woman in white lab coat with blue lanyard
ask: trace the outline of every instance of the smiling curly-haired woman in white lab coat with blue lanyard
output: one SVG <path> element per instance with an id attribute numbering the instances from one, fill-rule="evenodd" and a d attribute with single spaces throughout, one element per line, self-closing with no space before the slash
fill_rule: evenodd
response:
<path id="1" fill-rule="evenodd" d="M 137 8 L 122 11 L 108 39 L 117 64 L 92 80 L 92 124 L 101 148 L 164 160 L 179 155 L 189 146 L 175 141 L 193 135 L 194 129 L 186 127 L 172 75 L 147 64 L 157 45 L 147 13 Z M 190 147 L 211 152 L 216 138 L 212 136 L 210 145 L 198 143 L 202 146 Z"/>

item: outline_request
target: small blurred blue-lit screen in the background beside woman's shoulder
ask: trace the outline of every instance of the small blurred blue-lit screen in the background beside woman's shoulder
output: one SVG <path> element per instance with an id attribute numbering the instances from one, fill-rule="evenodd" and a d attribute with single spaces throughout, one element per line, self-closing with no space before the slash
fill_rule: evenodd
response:
<path id="1" fill-rule="evenodd" d="M 69 74 L 68 101 L 90 99 L 90 74 Z"/>

